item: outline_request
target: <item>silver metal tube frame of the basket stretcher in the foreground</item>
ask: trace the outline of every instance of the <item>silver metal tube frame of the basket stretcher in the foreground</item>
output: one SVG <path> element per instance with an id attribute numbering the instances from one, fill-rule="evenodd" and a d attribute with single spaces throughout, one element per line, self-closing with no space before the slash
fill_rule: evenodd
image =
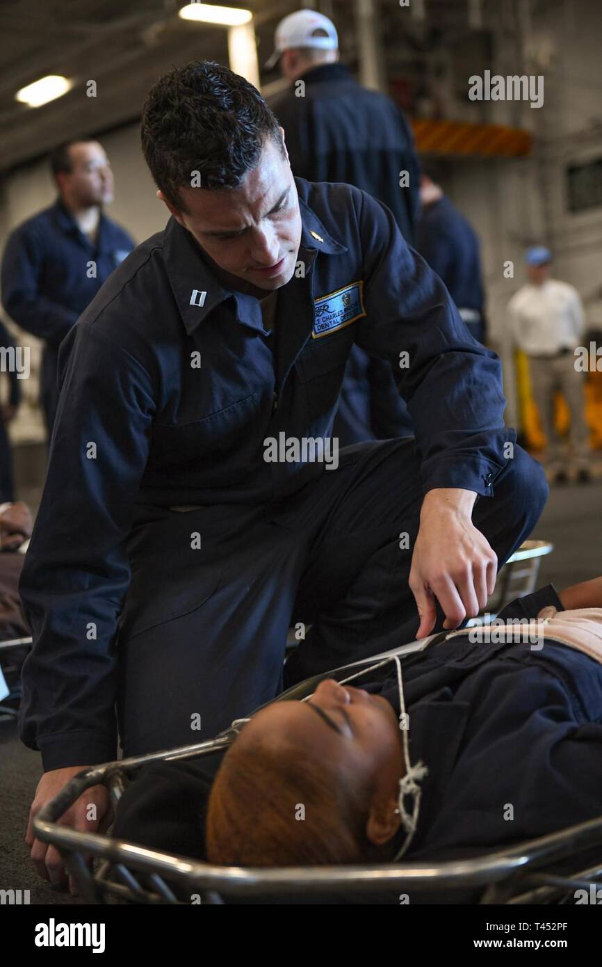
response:
<path id="1" fill-rule="evenodd" d="M 273 701 L 302 699 L 312 694 L 325 678 L 342 680 L 350 669 L 366 668 L 376 660 L 398 654 L 411 659 L 430 644 L 431 635 L 403 649 L 396 649 L 370 659 L 362 659 L 325 674 L 316 675 L 300 685 L 282 692 Z M 264 706 L 265 707 L 265 706 Z M 259 711 L 259 710 L 257 710 Z M 158 762 L 189 762 L 222 751 L 236 738 L 233 728 L 215 739 L 169 751 L 155 752 L 83 770 L 34 819 L 35 835 L 55 846 L 72 875 L 78 894 L 87 903 L 131 902 L 136 904 L 186 905 L 190 902 L 223 903 L 222 894 L 235 902 L 261 902 L 262 895 L 287 894 L 303 896 L 311 902 L 312 894 L 335 894 L 341 902 L 354 902 L 354 895 L 366 893 L 428 894 L 442 891 L 450 902 L 458 889 L 480 890 L 481 904 L 562 904 L 571 902 L 577 889 L 602 886 L 602 815 L 588 822 L 567 827 L 557 833 L 530 839 L 476 858 L 440 864 L 393 863 L 342 866 L 289 866 L 282 868 L 216 866 L 169 853 L 147 849 L 134 842 L 111 835 L 79 833 L 60 826 L 59 820 L 85 789 L 106 786 L 113 806 L 119 804 L 129 781 L 144 767 Z M 553 872 L 559 862 L 579 857 L 585 852 L 596 864 L 580 868 L 574 861 L 574 872 Z M 89 864 L 86 856 L 93 858 Z M 573 867 L 571 867 L 573 868 Z M 184 900 L 186 895 L 190 899 Z M 195 897 L 192 900 L 191 897 Z M 198 897 L 198 899 L 196 899 Z M 299 902 L 299 900 L 297 900 Z M 320 902 L 318 900 L 318 902 Z M 365 902 L 360 899 L 359 902 Z M 378 902 L 378 900 L 374 900 Z M 439 900 L 441 902 L 441 900 Z M 574 902 L 574 900 L 572 900 Z"/>

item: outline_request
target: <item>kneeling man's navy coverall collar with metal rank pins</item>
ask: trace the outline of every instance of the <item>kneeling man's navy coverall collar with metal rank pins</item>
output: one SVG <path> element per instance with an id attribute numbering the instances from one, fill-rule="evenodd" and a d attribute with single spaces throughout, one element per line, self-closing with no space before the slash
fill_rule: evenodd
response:
<path id="1" fill-rule="evenodd" d="M 348 249 L 332 238 L 322 221 L 300 196 L 301 245 L 297 256 L 307 266 L 313 263 L 318 252 L 339 255 Z M 200 322 L 226 299 L 234 298 L 238 319 L 253 329 L 261 329 L 261 313 L 246 312 L 254 308 L 257 300 L 224 286 L 215 276 L 209 263 L 203 258 L 190 232 L 173 216 L 167 222 L 163 240 L 165 269 L 174 298 L 180 310 L 186 334 L 190 336 Z M 289 283 L 290 284 L 290 283 Z M 283 286 L 284 288 L 285 286 Z M 266 295 L 269 292 L 266 290 Z M 248 314 L 248 318 L 247 318 Z"/>

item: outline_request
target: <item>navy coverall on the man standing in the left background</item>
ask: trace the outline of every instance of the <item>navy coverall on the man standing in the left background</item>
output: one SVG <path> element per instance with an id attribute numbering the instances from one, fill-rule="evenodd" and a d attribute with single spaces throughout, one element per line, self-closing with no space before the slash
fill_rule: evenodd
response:
<path id="1" fill-rule="evenodd" d="M 48 436 L 59 398 L 61 340 L 133 248 L 128 232 L 104 214 L 93 245 L 60 198 L 9 237 L 2 260 L 2 301 L 17 326 L 45 340 L 41 400 Z"/>

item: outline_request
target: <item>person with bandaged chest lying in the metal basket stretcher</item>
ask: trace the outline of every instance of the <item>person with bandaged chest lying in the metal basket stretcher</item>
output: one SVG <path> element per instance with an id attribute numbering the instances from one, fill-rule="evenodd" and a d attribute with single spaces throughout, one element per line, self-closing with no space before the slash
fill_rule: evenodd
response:
<path id="1" fill-rule="evenodd" d="M 401 721 L 390 662 L 273 702 L 213 784 L 201 760 L 148 767 L 113 835 L 227 865 L 440 862 L 601 815 L 602 577 L 501 614 L 538 616 L 537 644 L 461 630 L 405 659 Z"/>

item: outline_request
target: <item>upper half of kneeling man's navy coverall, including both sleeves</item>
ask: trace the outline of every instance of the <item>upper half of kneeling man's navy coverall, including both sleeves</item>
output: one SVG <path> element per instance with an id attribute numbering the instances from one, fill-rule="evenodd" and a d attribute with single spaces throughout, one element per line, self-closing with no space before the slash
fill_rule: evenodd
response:
<path id="1" fill-rule="evenodd" d="M 500 360 L 469 336 L 378 202 L 346 185 L 297 186 L 300 268 L 279 289 L 277 374 L 258 300 L 224 289 L 173 219 L 108 278 L 61 347 L 20 585 L 35 639 L 20 734 L 45 769 L 115 756 L 114 644 L 132 528 L 149 505 L 266 504 L 319 476 L 318 463 L 266 462 L 264 440 L 330 435 L 354 344 L 395 367 L 424 491 L 493 493 L 515 438 L 503 425 Z M 409 367 L 398 366 L 402 351 Z"/>

